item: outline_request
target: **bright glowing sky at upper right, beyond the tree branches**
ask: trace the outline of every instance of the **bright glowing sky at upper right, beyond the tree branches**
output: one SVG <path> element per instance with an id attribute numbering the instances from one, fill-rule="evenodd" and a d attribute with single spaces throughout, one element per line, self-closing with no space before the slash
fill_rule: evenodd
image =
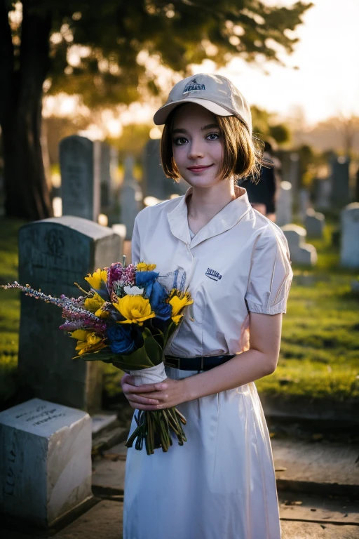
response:
<path id="1" fill-rule="evenodd" d="M 294 0 L 279 2 L 292 5 Z M 218 72 L 228 76 L 252 105 L 286 117 L 298 114 L 301 107 L 309 125 L 339 114 L 359 115 L 359 0 L 313 4 L 297 28 L 295 52 L 281 57 L 287 67 L 267 62 L 266 76 L 236 59 Z M 212 71 L 209 65 L 208 69 Z"/>

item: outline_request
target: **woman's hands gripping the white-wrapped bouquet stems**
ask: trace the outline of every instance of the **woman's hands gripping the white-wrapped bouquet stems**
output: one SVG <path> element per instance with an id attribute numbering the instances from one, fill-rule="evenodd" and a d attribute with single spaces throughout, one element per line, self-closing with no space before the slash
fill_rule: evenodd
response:
<path id="1" fill-rule="evenodd" d="M 172 406 L 177 406 L 177 404 L 187 400 L 184 394 L 183 380 L 166 378 L 163 382 L 156 384 L 133 385 L 134 380 L 134 376 L 126 375 L 122 387 L 124 392 L 126 391 L 130 405 L 137 410 L 162 410 L 163 408 L 172 408 Z M 143 397 L 155 399 L 158 404 L 143 404 Z"/>

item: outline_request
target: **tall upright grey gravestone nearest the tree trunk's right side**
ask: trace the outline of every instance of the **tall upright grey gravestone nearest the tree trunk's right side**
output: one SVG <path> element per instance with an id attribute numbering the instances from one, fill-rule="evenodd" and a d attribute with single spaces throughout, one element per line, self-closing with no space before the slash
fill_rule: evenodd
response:
<path id="1" fill-rule="evenodd" d="M 97 222 L 100 213 L 101 142 L 72 135 L 60 142 L 62 215 Z"/>

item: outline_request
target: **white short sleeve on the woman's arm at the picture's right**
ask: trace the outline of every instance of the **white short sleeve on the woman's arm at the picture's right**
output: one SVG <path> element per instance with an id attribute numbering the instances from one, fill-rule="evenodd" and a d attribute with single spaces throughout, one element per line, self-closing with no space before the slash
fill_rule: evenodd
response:
<path id="1" fill-rule="evenodd" d="M 280 229 L 267 230 L 258 237 L 252 251 L 250 277 L 245 293 L 248 311 L 261 314 L 285 313 L 292 277 L 287 239 Z"/>

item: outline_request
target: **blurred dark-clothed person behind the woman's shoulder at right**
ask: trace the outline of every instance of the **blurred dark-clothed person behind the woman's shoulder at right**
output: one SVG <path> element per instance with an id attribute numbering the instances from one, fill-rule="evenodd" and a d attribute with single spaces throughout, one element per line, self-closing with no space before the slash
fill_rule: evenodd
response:
<path id="1" fill-rule="evenodd" d="M 264 142 L 264 166 L 257 183 L 245 180 L 241 187 L 247 189 L 248 199 L 252 208 L 266 215 L 271 221 L 276 222 L 276 201 L 278 199 L 280 185 L 281 164 L 273 152 L 276 150 L 276 142 L 266 140 Z"/>

